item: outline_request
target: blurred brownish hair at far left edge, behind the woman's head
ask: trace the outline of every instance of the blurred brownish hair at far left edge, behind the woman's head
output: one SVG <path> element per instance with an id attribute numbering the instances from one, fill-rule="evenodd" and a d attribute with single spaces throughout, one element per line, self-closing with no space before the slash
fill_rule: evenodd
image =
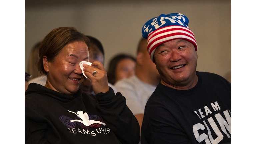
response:
<path id="1" fill-rule="evenodd" d="M 39 60 L 40 43 L 41 42 L 37 42 L 31 49 L 30 54 L 29 54 L 27 73 L 31 74 L 30 79 L 41 76 L 40 71 L 38 71 L 38 68 L 36 67 L 38 60 Z"/>

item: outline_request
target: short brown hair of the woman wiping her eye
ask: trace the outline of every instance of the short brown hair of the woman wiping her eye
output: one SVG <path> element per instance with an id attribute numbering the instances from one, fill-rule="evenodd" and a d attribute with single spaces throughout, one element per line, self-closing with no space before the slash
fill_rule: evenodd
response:
<path id="1" fill-rule="evenodd" d="M 84 41 L 88 49 L 90 47 L 90 40 L 74 27 L 53 29 L 46 35 L 39 46 L 38 70 L 42 74 L 47 75 L 47 72 L 44 70 L 43 56 L 46 56 L 49 62 L 53 62 L 64 46 L 75 41 Z"/>

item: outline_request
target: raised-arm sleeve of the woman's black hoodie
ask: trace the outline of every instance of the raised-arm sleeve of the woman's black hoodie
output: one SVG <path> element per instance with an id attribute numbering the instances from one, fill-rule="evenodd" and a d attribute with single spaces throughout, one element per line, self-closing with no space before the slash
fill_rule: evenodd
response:
<path id="1" fill-rule="evenodd" d="M 120 92 L 116 95 L 110 87 L 106 93 L 96 95 L 96 108 L 100 115 L 115 133 L 122 144 L 138 144 L 140 140 L 140 126 L 126 105 L 126 99 Z"/>

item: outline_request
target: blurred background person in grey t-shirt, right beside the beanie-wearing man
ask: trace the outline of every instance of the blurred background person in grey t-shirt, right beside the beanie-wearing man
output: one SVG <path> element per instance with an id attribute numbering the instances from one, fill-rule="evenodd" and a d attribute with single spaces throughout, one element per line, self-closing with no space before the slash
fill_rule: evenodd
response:
<path id="1" fill-rule="evenodd" d="M 140 128 L 145 105 L 156 89 L 161 77 L 147 51 L 147 39 L 141 38 L 137 47 L 135 75 L 115 83 L 118 92 L 126 98 L 126 104 L 137 118 Z"/>

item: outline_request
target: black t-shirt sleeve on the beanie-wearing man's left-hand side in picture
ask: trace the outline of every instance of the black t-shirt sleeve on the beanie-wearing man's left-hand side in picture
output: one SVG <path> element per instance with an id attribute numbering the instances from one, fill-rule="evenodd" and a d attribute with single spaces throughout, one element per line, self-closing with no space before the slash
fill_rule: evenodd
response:
<path id="1" fill-rule="evenodd" d="M 191 143 L 179 122 L 161 105 L 146 107 L 145 113 L 141 129 L 141 143 Z"/>

